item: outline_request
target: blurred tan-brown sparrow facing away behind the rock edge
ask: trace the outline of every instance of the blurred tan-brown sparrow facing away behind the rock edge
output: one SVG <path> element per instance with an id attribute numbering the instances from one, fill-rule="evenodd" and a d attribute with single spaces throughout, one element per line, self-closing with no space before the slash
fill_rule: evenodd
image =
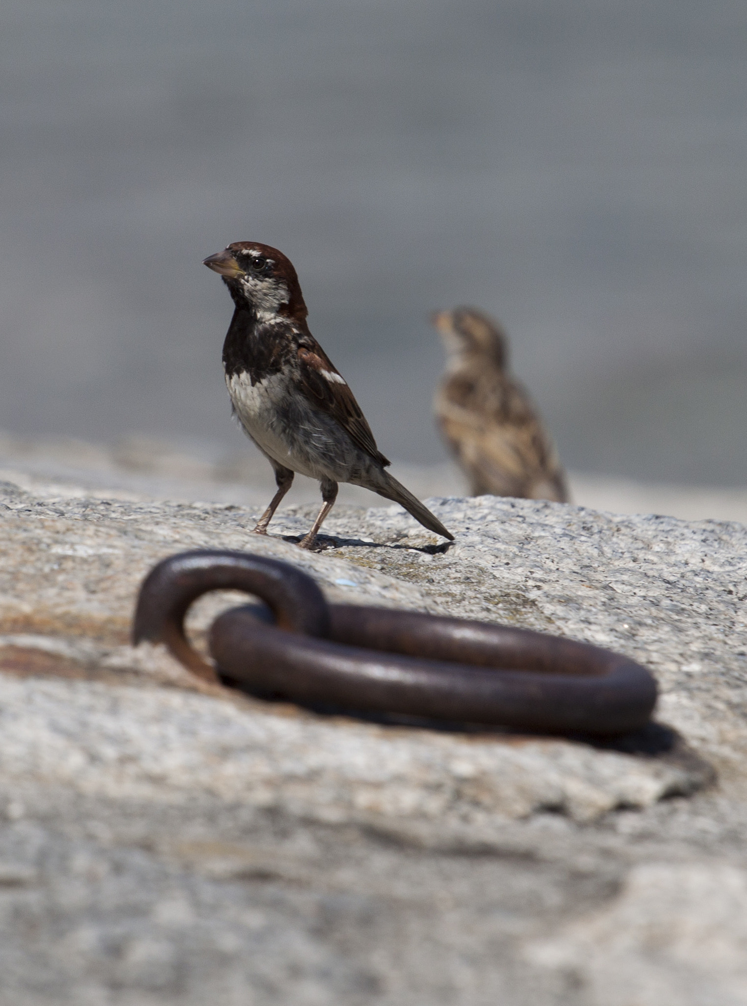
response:
<path id="1" fill-rule="evenodd" d="M 431 321 L 448 353 L 433 407 L 443 439 L 468 475 L 473 496 L 568 501 L 555 448 L 526 390 L 507 372 L 507 338 L 472 308 Z"/>

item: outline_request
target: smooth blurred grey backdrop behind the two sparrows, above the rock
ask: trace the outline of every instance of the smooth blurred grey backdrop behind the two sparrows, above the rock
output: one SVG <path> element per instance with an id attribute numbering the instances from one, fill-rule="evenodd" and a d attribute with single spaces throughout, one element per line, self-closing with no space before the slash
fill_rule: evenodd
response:
<path id="1" fill-rule="evenodd" d="M 5 0 L 0 427 L 238 445 L 206 255 L 294 261 L 382 450 L 495 313 L 569 467 L 747 483 L 743 0 Z"/>

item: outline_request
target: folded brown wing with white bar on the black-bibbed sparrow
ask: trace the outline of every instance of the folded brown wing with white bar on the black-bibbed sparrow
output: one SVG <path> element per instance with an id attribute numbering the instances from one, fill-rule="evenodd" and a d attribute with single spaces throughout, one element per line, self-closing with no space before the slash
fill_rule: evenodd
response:
<path id="1" fill-rule="evenodd" d="M 319 343 L 308 336 L 299 346 L 299 367 L 301 389 L 307 398 L 336 420 L 361 451 L 381 465 L 391 464 L 376 447 L 371 428 L 345 378 Z"/>

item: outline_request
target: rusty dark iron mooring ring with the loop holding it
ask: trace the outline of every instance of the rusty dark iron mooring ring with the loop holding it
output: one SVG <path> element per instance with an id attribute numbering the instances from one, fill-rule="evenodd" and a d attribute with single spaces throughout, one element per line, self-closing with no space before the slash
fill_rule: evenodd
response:
<path id="1" fill-rule="evenodd" d="M 189 646 L 184 616 L 216 590 L 257 596 L 275 620 L 247 606 L 219 616 L 210 652 L 221 674 L 302 705 L 616 734 L 642 727 L 656 704 L 653 677 L 619 654 L 510 626 L 328 605 L 300 569 L 246 552 L 160 562 L 141 588 L 135 643 L 165 643 L 191 670 L 214 674 Z"/>

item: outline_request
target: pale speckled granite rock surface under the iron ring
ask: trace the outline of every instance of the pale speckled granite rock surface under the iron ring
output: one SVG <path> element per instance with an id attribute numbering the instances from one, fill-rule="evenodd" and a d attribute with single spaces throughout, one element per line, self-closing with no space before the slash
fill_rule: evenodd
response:
<path id="1" fill-rule="evenodd" d="M 0 487 L 0 1004 L 747 1004 L 747 529 L 530 501 L 313 507 Z M 177 550 L 333 600 L 625 652 L 657 725 L 560 738 L 324 717 L 129 646 Z M 235 597 L 195 606 L 199 641 Z"/>

